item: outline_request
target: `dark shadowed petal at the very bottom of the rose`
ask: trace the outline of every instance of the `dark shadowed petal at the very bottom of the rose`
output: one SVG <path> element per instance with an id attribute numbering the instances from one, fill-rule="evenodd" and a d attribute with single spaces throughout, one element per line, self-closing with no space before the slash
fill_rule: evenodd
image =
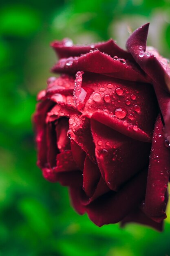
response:
<path id="1" fill-rule="evenodd" d="M 147 171 L 137 174 L 118 192 L 109 192 L 86 206 L 89 218 L 99 227 L 122 220 L 141 200 L 146 190 Z"/>

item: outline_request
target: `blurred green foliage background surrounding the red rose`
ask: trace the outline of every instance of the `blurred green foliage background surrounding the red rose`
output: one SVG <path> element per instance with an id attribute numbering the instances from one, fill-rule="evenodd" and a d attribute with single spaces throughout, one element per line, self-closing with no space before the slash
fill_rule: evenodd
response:
<path id="1" fill-rule="evenodd" d="M 35 164 L 31 116 L 56 61 L 49 43 L 114 38 L 124 47 L 128 31 L 146 22 L 148 44 L 170 57 L 170 0 L 1 0 L 0 256 L 170 256 L 170 206 L 163 233 L 99 228 Z"/>

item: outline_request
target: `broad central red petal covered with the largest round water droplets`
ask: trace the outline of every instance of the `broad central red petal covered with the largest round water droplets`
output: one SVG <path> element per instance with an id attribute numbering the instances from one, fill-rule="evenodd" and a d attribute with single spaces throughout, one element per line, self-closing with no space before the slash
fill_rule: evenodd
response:
<path id="1" fill-rule="evenodd" d="M 83 116 L 134 139 L 151 140 L 157 103 L 150 84 L 77 72 L 74 93 Z"/>

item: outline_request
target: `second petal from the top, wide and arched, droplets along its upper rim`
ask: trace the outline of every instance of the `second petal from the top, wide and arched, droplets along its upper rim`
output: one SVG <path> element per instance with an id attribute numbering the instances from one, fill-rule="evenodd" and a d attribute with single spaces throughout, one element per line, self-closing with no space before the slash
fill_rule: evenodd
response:
<path id="1" fill-rule="evenodd" d="M 128 81 L 148 82 L 148 76 L 130 61 L 114 59 L 99 50 L 81 57 L 63 58 L 52 68 L 53 72 L 75 74 L 77 71 L 105 74 Z"/>

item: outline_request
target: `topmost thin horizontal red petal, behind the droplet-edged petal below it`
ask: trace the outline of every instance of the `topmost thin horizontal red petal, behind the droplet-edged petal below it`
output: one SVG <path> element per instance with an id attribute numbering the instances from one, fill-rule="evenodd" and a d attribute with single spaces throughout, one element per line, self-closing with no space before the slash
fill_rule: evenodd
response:
<path id="1" fill-rule="evenodd" d="M 81 54 L 86 54 L 93 49 L 99 49 L 100 52 L 105 52 L 106 54 L 114 57 L 115 55 L 132 59 L 132 55 L 121 49 L 112 39 L 103 43 L 96 43 L 91 45 L 73 45 L 71 39 L 65 38 L 62 41 L 54 41 L 51 46 L 59 56 L 59 58 L 69 58 L 73 56 L 80 56 Z"/>

